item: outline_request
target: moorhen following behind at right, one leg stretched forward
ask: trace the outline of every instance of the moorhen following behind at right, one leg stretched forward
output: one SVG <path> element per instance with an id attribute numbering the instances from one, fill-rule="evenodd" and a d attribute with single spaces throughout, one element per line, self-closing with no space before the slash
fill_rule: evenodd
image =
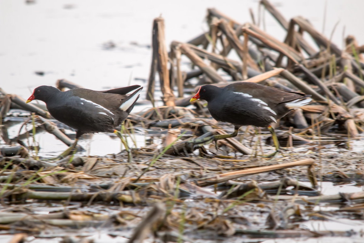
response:
<path id="1" fill-rule="evenodd" d="M 196 99 L 207 101 L 211 116 L 217 121 L 233 124 L 234 132 L 189 142 L 195 146 L 202 146 L 218 139 L 236 137 L 239 128 L 244 125 L 267 127 L 272 133 L 276 147 L 276 152 L 267 156 L 272 157 L 279 152 L 279 143 L 270 124 L 284 117 L 289 110 L 308 104 L 312 100 L 310 96 L 251 82 L 236 82 L 223 88 L 203 85 L 190 102 Z"/>

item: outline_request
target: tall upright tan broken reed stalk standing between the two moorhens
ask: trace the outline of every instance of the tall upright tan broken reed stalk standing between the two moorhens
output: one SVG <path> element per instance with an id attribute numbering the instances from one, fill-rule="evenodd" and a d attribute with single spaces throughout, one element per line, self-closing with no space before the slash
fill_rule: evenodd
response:
<path id="1" fill-rule="evenodd" d="M 153 52 L 157 48 L 157 71 L 159 73 L 159 81 L 161 83 L 162 100 L 166 106 L 174 106 L 174 94 L 170 87 L 169 70 L 168 70 L 168 52 L 165 43 L 164 34 L 164 19 L 162 17 L 155 18 L 153 21 L 153 33 L 155 34 L 152 40 Z"/>

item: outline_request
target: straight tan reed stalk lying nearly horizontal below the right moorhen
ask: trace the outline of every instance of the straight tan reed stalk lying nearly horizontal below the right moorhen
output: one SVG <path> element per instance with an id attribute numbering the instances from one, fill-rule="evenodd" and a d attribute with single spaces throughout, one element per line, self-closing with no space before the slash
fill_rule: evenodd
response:
<path id="1" fill-rule="evenodd" d="M 278 169 L 285 169 L 290 168 L 294 166 L 301 166 L 301 165 L 312 165 L 314 163 L 314 160 L 312 158 L 308 158 L 305 160 L 295 161 L 295 162 L 289 162 L 285 164 L 278 164 L 278 165 L 269 165 L 269 166 L 262 166 L 252 169 L 245 169 L 241 171 L 233 171 L 233 172 L 227 172 L 216 176 L 209 176 L 205 178 L 201 178 L 196 180 L 196 184 L 199 187 L 206 187 L 208 185 L 214 185 L 217 183 L 222 183 L 225 181 L 237 179 L 243 176 L 253 175 L 257 173 L 262 172 L 268 172 L 268 171 L 276 171 Z"/>

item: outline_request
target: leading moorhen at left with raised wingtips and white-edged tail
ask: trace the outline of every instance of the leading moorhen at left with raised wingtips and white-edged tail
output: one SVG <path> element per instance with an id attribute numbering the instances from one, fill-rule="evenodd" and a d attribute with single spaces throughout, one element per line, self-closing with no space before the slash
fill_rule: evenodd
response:
<path id="1" fill-rule="evenodd" d="M 26 103 L 44 101 L 52 117 L 76 130 L 75 142 L 60 155 L 64 157 L 75 148 L 82 134 L 114 132 L 133 109 L 142 89 L 132 85 L 105 91 L 79 88 L 63 92 L 52 86 L 39 86 Z M 135 91 L 127 95 L 132 90 Z"/>

